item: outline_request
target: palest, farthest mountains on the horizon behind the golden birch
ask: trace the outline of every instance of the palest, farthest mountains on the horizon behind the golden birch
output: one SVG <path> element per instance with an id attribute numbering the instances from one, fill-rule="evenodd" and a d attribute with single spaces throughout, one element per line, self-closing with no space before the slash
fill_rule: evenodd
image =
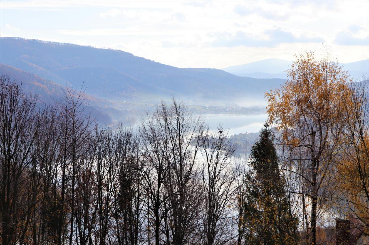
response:
<path id="1" fill-rule="evenodd" d="M 266 59 L 242 65 L 234 65 L 224 68 L 231 74 L 241 77 L 252 78 L 282 78 L 286 79 L 286 70 L 290 68 L 292 61 L 281 59 Z M 348 71 L 354 79 L 361 79 L 368 77 L 369 74 L 369 60 L 361 60 L 343 65 L 344 69 Z"/>

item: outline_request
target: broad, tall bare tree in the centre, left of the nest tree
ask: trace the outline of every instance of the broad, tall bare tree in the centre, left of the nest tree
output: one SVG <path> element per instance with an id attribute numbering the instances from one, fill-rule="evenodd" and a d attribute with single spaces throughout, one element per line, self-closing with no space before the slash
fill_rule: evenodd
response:
<path id="1" fill-rule="evenodd" d="M 201 194 L 195 163 L 202 131 L 200 119 L 175 99 L 170 106 L 162 102 L 142 124 L 147 161 L 142 173 L 151 202 L 153 217 L 148 222 L 154 223 L 155 244 L 161 240 L 198 242 Z"/>

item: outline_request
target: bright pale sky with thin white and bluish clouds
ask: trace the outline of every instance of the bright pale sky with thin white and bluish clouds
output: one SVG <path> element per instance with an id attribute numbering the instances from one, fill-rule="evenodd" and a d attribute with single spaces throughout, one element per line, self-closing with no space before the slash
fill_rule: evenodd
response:
<path id="1" fill-rule="evenodd" d="M 119 49 L 176 67 L 225 68 L 329 50 L 369 58 L 369 1 L 6 1 L 0 36 Z"/>

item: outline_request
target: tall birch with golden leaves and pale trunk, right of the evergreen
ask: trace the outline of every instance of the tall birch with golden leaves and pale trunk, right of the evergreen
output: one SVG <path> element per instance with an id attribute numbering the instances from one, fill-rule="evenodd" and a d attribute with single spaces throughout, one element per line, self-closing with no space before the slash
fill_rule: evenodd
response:
<path id="1" fill-rule="evenodd" d="M 309 197 L 310 217 L 307 239 L 316 244 L 318 214 L 328 199 L 328 182 L 342 141 L 342 90 L 348 75 L 335 61 L 317 59 L 307 52 L 296 57 L 280 89 L 266 93 L 268 120 L 279 132 L 280 144 L 299 152 L 298 160 L 307 171 L 287 166 L 305 183 L 301 195 Z M 302 154 L 301 154 L 302 153 Z"/>

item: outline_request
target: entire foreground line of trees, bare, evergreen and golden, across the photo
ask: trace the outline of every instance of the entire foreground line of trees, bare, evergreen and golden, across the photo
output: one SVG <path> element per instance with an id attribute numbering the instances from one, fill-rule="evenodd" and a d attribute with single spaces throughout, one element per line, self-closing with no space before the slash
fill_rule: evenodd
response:
<path id="1" fill-rule="evenodd" d="M 1 244 L 330 244 L 335 218 L 368 227 L 367 87 L 327 64 L 300 57 L 267 94 L 276 127 L 248 159 L 175 99 L 137 131 L 101 127 L 82 92 L 46 105 L 2 76 Z"/>

